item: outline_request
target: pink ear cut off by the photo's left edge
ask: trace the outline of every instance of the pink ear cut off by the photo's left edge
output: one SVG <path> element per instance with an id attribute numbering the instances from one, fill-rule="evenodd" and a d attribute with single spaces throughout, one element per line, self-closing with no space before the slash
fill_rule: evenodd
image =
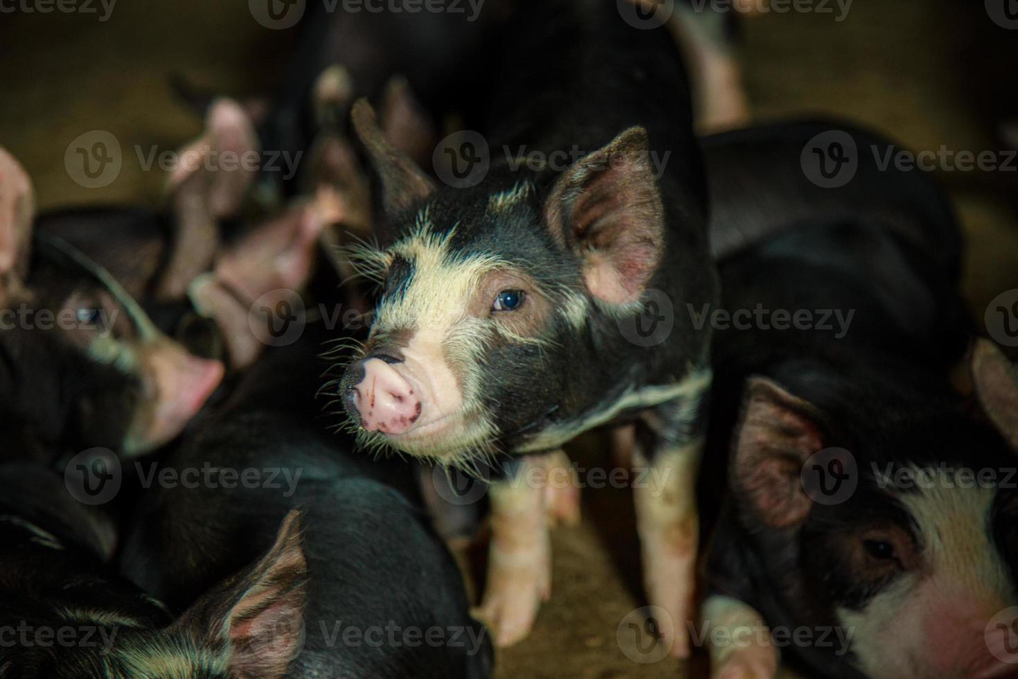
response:
<path id="1" fill-rule="evenodd" d="M 24 168 L 0 149 L 0 294 L 11 278 L 22 278 L 27 271 L 35 206 Z"/>

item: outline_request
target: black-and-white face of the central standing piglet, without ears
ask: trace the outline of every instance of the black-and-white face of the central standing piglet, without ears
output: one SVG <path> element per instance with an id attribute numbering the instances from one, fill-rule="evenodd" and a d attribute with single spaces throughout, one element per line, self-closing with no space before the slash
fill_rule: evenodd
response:
<path id="1" fill-rule="evenodd" d="M 446 462 L 540 416 L 540 399 L 519 397 L 559 383 L 550 362 L 565 322 L 549 281 L 454 237 L 425 225 L 379 253 L 371 336 L 340 385 L 364 443 Z"/>

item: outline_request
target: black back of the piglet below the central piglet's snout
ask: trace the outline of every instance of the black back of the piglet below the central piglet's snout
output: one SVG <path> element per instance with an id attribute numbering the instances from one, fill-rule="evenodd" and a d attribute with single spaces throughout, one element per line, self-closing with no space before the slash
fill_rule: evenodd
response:
<path id="1" fill-rule="evenodd" d="M 308 328 L 294 345 L 271 349 L 238 396 L 159 465 L 181 478 L 188 468 L 253 469 L 259 483 L 143 491 L 123 568 L 183 610 L 264 551 L 281 518 L 301 508 L 305 633 L 286 676 L 488 676 L 490 641 L 416 508 L 412 467 L 352 454 L 325 431 L 315 399 L 322 338 Z"/>

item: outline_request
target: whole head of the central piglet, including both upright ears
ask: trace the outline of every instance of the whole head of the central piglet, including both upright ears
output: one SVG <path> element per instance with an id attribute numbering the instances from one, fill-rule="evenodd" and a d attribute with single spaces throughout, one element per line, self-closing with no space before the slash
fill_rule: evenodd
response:
<path id="1" fill-rule="evenodd" d="M 352 251 L 380 294 L 335 385 L 362 444 L 457 464 L 553 449 L 701 357 L 692 328 L 653 348 L 620 332 L 649 288 L 684 292 L 663 273 L 675 243 L 643 128 L 558 174 L 493 165 L 473 188 L 439 188 L 364 102 L 352 115 L 387 243 Z"/>

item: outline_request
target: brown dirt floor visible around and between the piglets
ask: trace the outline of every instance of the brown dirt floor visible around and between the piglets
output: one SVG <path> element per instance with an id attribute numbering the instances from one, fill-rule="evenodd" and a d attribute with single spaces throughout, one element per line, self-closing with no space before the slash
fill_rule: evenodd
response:
<path id="1" fill-rule="evenodd" d="M 133 0 L 106 21 L 0 13 L 0 145 L 27 168 L 41 207 L 157 203 L 164 177 L 143 169 L 134 147 L 173 150 L 200 129 L 166 76 L 231 93 L 263 92 L 276 80 L 288 38 L 253 21 L 246 5 Z M 982 2 L 858 0 L 844 20 L 836 14 L 772 12 L 741 22 L 755 117 L 833 113 L 917 150 L 1003 148 L 998 124 L 1018 120 L 1018 33 L 991 21 Z M 112 132 L 124 156 L 120 175 L 103 188 L 80 186 L 64 167 L 71 140 L 94 129 Z M 976 319 L 989 299 L 1018 287 L 1016 177 L 941 173 L 968 234 L 965 293 Z M 597 463 L 593 448 L 573 453 Z M 500 654 L 498 676 L 699 676 L 702 659 L 693 672 L 667 658 L 627 658 L 626 616 L 643 606 L 630 499 L 625 491 L 586 492 L 583 509 L 579 527 L 555 533 L 553 599 L 531 637 Z"/>

